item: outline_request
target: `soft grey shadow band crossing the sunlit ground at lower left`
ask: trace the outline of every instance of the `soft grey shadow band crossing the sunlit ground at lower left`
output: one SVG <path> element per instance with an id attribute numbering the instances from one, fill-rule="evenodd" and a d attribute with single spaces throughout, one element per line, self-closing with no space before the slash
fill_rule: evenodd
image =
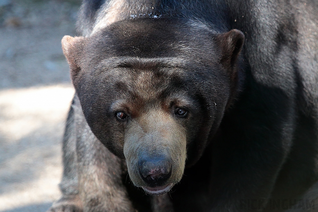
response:
<path id="1" fill-rule="evenodd" d="M 59 123 L 45 123 L 45 127 L 11 142 L 0 134 L 0 195 L 11 192 L 11 188 L 18 185 L 38 181 L 48 166 L 60 167 L 63 130 L 62 119 Z"/>

